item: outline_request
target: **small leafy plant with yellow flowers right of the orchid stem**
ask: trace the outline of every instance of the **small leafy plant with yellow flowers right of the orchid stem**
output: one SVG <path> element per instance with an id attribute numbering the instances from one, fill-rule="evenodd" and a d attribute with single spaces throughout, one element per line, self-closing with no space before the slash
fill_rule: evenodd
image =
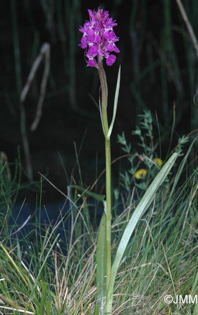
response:
<path id="1" fill-rule="evenodd" d="M 144 113 L 139 115 L 139 125 L 132 131 L 132 135 L 139 138 L 137 145 L 141 152 L 132 152 L 132 144 L 126 141 L 124 132 L 117 135 L 117 142 L 121 144 L 122 151 L 127 153 L 130 163 L 128 170 L 120 173 L 120 185 L 127 192 L 130 192 L 132 187 L 144 191 L 164 163 L 156 152 L 159 143 L 154 140 L 153 121 L 149 110 L 144 110 Z M 189 142 L 189 139 L 188 136 L 184 135 L 179 138 L 178 144 L 172 153 L 176 152 L 182 156 L 183 153 L 181 151 L 186 143 Z M 162 146 L 161 143 L 160 145 Z M 165 160 L 167 158 L 168 155 L 165 157 Z"/>

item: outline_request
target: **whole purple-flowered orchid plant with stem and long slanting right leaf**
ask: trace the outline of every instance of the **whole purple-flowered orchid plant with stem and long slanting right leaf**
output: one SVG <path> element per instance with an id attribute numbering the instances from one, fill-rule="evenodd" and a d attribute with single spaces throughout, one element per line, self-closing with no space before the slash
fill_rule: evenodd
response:
<path id="1" fill-rule="evenodd" d="M 112 17 L 109 18 L 109 12 L 103 9 L 88 10 L 90 21 L 86 21 L 84 26 L 80 28 L 83 33 L 81 44 L 79 46 L 83 49 L 88 49 L 85 56 L 88 58 L 87 65 L 95 67 L 99 72 L 100 87 L 101 87 L 101 102 L 99 99 L 99 110 L 102 124 L 102 130 L 105 138 L 105 161 L 106 161 L 106 200 L 104 200 L 104 213 L 102 215 L 99 234 L 97 240 L 97 291 L 100 307 L 100 314 L 110 315 L 113 311 L 113 292 L 115 277 L 122 256 L 128 245 L 132 232 L 141 218 L 141 216 L 148 209 L 148 206 L 152 203 L 156 191 L 159 186 L 164 182 L 166 175 L 172 168 L 178 154 L 174 153 L 169 160 L 165 163 L 162 170 L 155 177 L 139 205 L 134 210 L 130 221 L 128 222 L 120 243 L 117 248 L 117 252 L 112 264 L 111 256 L 111 234 L 112 234 L 112 206 L 111 206 L 111 144 L 110 137 L 115 122 L 115 115 L 117 109 L 117 101 L 120 85 L 120 67 L 117 77 L 117 85 L 115 90 L 115 101 L 112 122 L 109 126 L 107 119 L 107 100 L 108 100 L 108 88 L 106 75 L 103 68 L 103 59 L 106 59 L 107 65 L 111 66 L 115 63 L 116 56 L 112 52 L 118 53 L 119 50 L 115 45 L 118 38 L 113 31 L 113 28 L 117 25 L 113 21 Z M 145 128 L 148 129 L 148 136 L 152 140 L 152 129 L 149 117 L 144 122 Z M 153 145 L 152 145 L 153 147 Z M 131 148 L 127 148 L 129 151 Z"/>

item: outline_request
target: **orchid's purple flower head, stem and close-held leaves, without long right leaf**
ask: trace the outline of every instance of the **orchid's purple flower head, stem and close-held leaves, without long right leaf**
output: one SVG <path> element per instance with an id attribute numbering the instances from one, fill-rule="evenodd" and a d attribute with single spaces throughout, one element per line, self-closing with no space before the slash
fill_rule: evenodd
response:
<path id="1" fill-rule="evenodd" d="M 115 63 L 116 56 L 113 52 L 118 53 L 119 49 L 116 42 L 119 38 L 115 35 L 113 28 L 117 25 L 109 12 L 103 9 L 88 10 L 90 21 L 86 21 L 79 31 L 83 33 L 81 44 L 82 49 L 86 49 L 87 65 L 97 68 L 100 79 L 99 93 L 99 112 L 102 124 L 102 130 L 105 138 L 105 161 L 106 161 L 106 201 L 104 201 L 104 213 L 102 215 L 97 239 L 96 251 L 96 284 L 97 299 L 101 314 L 112 314 L 113 290 L 109 290 L 111 284 L 111 143 L 110 137 L 115 122 L 117 110 L 117 101 L 120 85 L 120 66 L 117 76 L 115 89 L 114 110 L 112 121 L 109 126 L 107 115 L 108 87 L 105 71 L 103 68 L 103 59 L 106 59 L 107 65 Z M 101 96 L 101 97 L 100 97 Z"/>

